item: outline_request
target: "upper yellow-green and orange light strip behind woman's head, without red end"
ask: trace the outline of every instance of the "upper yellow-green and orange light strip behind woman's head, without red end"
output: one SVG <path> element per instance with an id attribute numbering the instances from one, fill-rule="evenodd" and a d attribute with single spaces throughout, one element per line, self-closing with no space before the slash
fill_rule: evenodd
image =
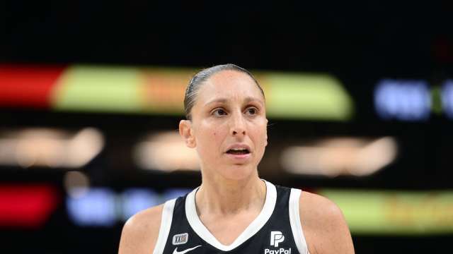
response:
<path id="1" fill-rule="evenodd" d="M 190 69 L 72 66 L 52 92 L 59 111 L 183 115 Z M 258 73 L 270 118 L 347 121 L 352 99 L 330 75 Z"/>

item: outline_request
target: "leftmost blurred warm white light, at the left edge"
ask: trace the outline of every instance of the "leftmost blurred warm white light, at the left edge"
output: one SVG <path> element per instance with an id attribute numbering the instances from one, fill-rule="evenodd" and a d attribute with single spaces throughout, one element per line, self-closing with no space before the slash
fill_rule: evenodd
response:
<path id="1" fill-rule="evenodd" d="M 95 128 L 76 133 L 52 128 L 27 128 L 0 133 L 0 164 L 24 168 L 79 168 L 104 147 L 104 138 Z"/>

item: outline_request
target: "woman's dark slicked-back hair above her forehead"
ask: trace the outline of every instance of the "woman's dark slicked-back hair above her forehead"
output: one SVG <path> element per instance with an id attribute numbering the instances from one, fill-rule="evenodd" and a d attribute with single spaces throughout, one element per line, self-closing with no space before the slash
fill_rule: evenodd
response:
<path id="1" fill-rule="evenodd" d="M 192 119 L 190 115 L 190 111 L 192 111 L 193 104 L 195 104 L 195 99 L 197 96 L 198 90 L 200 90 L 200 86 L 204 83 L 208 78 L 210 78 L 215 73 L 219 73 L 220 71 L 239 71 L 241 73 L 246 73 L 250 78 L 255 81 L 256 86 L 260 89 L 261 94 L 264 97 L 263 89 L 260 87 L 258 81 L 253 77 L 250 71 L 247 71 L 245 68 L 236 66 L 233 63 L 226 63 L 217 66 L 212 66 L 210 68 L 205 68 L 202 71 L 198 72 L 193 76 L 190 80 L 187 88 L 185 89 L 185 96 L 184 96 L 184 111 L 185 111 L 185 118 L 188 120 Z"/>

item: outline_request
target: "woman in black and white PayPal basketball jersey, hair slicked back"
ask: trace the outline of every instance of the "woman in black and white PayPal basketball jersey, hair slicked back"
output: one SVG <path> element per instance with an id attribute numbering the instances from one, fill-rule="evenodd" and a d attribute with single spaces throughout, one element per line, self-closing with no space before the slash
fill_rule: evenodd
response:
<path id="1" fill-rule="evenodd" d="M 258 177 L 268 120 L 251 73 L 233 64 L 200 71 L 184 106 L 179 132 L 197 150 L 202 184 L 129 219 L 120 254 L 354 253 L 333 202 Z"/>

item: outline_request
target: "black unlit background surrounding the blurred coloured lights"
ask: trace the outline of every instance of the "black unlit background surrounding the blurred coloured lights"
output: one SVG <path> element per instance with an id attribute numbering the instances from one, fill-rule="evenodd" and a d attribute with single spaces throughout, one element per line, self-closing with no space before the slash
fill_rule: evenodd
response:
<path id="1" fill-rule="evenodd" d="M 236 63 L 251 70 L 329 73 L 355 102 L 352 121 L 273 120 L 268 151 L 292 138 L 396 136 L 401 157 L 365 177 L 290 176 L 263 172 L 299 188 L 447 190 L 453 188 L 453 121 L 382 121 L 372 92 L 382 78 L 452 78 L 452 1 L 1 1 L 0 63 L 18 66 L 202 68 Z M 125 151 L 150 130 L 174 129 L 178 117 L 0 109 L 0 127 L 100 128 L 106 148 L 84 171 L 93 186 L 193 188 L 197 173 L 161 174 L 134 168 Z M 266 155 L 268 156 L 268 155 Z M 266 158 L 265 158 L 266 159 Z M 62 187 L 63 171 L 0 167 L 1 183 Z M 0 229 L 8 253 L 115 253 L 122 224 L 80 228 L 64 205 L 41 229 Z M 444 253 L 452 235 L 353 235 L 356 253 Z"/>

